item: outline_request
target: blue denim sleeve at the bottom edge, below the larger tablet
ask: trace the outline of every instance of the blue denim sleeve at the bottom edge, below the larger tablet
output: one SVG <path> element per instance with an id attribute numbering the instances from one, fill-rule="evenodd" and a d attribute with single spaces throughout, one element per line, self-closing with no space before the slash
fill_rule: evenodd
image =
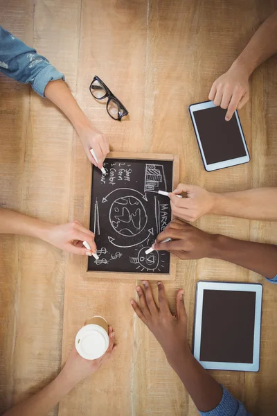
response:
<path id="1" fill-rule="evenodd" d="M 247 413 L 243 404 L 236 400 L 224 387 L 220 404 L 209 412 L 199 413 L 202 416 L 251 416 L 250 413 Z"/>

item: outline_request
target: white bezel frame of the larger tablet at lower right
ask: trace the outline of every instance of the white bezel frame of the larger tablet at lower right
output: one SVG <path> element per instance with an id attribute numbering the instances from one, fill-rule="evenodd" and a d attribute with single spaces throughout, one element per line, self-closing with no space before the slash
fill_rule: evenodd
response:
<path id="1" fill-rule="evenodd" d="M 220 363 L 200 361 L 202 311 L 204 291 L 256 292 L 256 309 L 253 339 L 253 363 Z M 222 283 L 220 281 L 199 281 L 195 299 L 195 336 L 193 355 L 199 363 L 210 370 L 236 370 L 257 372 L 260 368 L 260 325 L 262 320 L 262 285 L 244 283 Z"/>

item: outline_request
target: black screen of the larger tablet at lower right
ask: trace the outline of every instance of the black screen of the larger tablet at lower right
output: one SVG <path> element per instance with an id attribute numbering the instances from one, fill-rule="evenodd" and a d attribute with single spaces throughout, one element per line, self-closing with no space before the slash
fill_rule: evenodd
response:
<path id="1" fill-rule="evenodd" d="M 200 361 L 253 363 L 256 292 L 204 290 Z"/>

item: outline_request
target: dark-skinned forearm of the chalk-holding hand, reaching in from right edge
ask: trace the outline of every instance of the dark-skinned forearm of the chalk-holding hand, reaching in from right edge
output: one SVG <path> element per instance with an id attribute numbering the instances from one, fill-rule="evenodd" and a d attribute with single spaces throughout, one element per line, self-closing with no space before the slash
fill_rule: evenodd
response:
<path id="1" fill-rule="evenodd" d="M 277 246 L 215 236 L 211 258 L 238 264 L 272 279 L 277 275 Z"/>

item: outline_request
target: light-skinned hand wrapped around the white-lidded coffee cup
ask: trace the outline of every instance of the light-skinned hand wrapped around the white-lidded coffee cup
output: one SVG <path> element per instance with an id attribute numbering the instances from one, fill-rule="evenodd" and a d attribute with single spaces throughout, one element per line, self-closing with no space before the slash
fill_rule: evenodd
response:
<path id="1" fill-rule="evenodd" d="M 104 355 L 96 360 L 86 360 L 78 354 L 74 346 L 69 359 L 66 361 L 60 374 L 68 383 L 71 383 L 74 386 L 79 381 L 89 376 L 89 374 L 96 372 L 101 365 L 105 364 L 106 361 L 109 360 L 115 350 L 116 345 L 114 345 L 114 331 L 112 327 L 109 327 L 109 347 Z"/>

